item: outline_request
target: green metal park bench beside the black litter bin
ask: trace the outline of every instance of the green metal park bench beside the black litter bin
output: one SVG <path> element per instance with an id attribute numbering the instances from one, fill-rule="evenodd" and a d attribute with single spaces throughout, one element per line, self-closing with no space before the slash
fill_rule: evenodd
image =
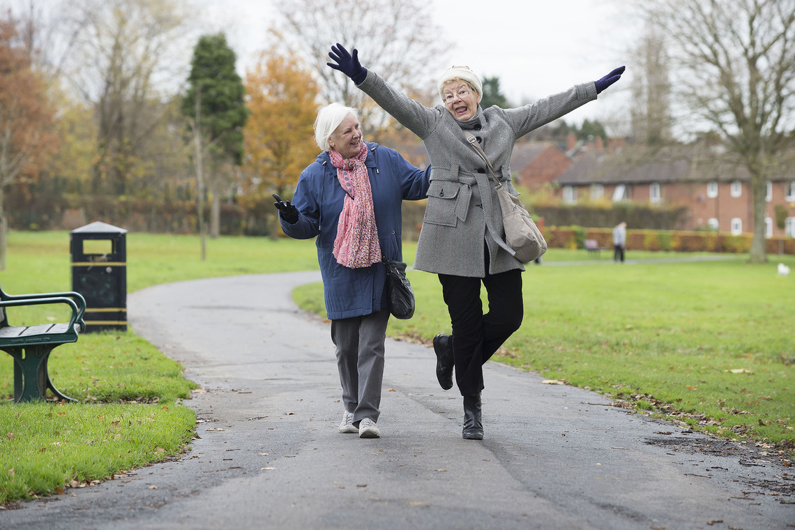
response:
<path id="1" fill-rule="evenodd" d="M 72 318 L 68 323 L 10 325 L 7 308 L 42 304 L 66 304 L 72 308 Z M 78 334 L 86 329 L 85 311 L 86 301 L 79 292 L 10 295 L 0 288 L 0 350 L 14 358 L 14 402 L 47 400 L 48 389 L 55 397 L 52 401 L 74 401 L 52 385 L 47 362 L 56 346 L 77 342 Z"/>

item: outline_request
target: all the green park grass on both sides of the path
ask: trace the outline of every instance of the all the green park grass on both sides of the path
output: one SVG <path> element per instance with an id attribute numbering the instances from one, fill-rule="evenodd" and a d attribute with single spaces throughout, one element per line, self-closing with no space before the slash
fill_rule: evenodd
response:
<path id="1" fill-rule="evenodd" d="M 317 269 L 314 242 L 210 240 L 128 234 L 128 291 L 200 277 Z M 0 285 L 11 294 L 71 290 L 66 232 L 12 232 Z M 413 261 L 413 246 L 404 246 Z M 677 257 L 630 251 L 630 260 Z M 684 254 L 692 256 L 692 254 Z M 795 403 L 793 281 L 776 263 L 746 257 L 696 263 L 614 265 L 584 250 L 551 249 L 523 275 L 525 324 L 498 360 L 607 394 L 634 408 L 716 435 L 790 451 Z M 557 266 L 601 261 L 599 266 Z M 429 341 L 449 331 L 434 275 L 409 271 L 413 319 L 390 321 L 391 336 Z M 322 285 L 297 289 L 324 313 Z M 318 305 L 320 301 L 320 305 Z M 64 321 L 66 311 L 14 311 L 12 323 Z M 181 367 L 134 333 L 86 334 L 59 346 L 55 385 L 76 404 L 13 404 L 12 361 L 0 356 L 0 503 L 60 492 L 184 451 L 196 426 L 182 405 L 195 388 Z M 488 381 L 487 381 L 488 385 Z M 789 445 L 786 445 L 789 443 Z M 780 445 L 781 447 L 774 447 Z"/>

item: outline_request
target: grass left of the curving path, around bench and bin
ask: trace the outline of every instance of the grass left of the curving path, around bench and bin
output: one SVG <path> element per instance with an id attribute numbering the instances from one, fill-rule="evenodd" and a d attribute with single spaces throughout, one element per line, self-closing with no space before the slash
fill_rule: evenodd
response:
<path id="1" fill-rule="evenodd" d="M 127 284 L 317 269 L 313 242 L 219 238 L 200 260 L 199 238 L 128 234 Z M 69 234 L 11 232 L 0 285 L 11 294 L 72 290 Z M 14 325 L 65 322 L 65 306 L 9 311 Z M 196 416 L 181 401 L 196 385 L 132 331 L 84 334 L 54 350 L 53 384 L 71 404 L 14 404 L 13 361 L 0 354 L 0 509 L 86 486 L 184 451 Z"/>

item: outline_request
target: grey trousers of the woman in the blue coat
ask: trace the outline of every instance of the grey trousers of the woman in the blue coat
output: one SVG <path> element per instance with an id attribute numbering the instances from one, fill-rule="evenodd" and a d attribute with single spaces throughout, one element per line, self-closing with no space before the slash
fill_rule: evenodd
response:
<path id="1" fill-rule="evenodd" d="M 353 423 L 370 418 L 378 421 L 381 412 L 381 384 L 384 377 L 384 341 L 390 311 L 332 320 L 332 342 L 337 348 L 339 382 L 343 404 L 353 412 Z"/>

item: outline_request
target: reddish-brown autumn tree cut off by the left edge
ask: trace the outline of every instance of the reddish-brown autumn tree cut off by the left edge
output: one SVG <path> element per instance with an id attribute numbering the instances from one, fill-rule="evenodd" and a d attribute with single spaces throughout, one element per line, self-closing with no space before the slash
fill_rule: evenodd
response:
<path id="1" fill-rule="evenodd" d="M 35 177 L 56 147 L 45 83 L 31 69 L 10 17 L 0 21 L 0 269 L 6 268 L 5 191 L 22 176 Z"/>

